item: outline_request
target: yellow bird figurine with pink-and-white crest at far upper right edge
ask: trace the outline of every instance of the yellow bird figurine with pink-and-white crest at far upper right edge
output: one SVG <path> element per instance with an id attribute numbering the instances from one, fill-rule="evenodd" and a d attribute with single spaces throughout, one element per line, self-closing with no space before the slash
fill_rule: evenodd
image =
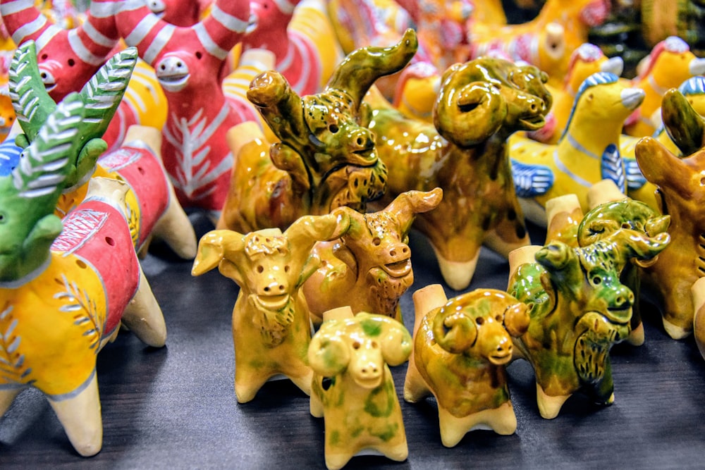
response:
<path id="1" fill-rule="evenodd" d="M 646 65 L 632 80 L 632 86 L 644 90 L 644 103 L 624 127 L 625 133 L 635 137 L 654 134 L 658 118 L 654 121 L 653 115 L 661 106 L 663 94 L 693 75 L 705 74 L 705 58 L 696 57 L 680 37 L 671 36 L 659 42 L 644 60 Z"/>

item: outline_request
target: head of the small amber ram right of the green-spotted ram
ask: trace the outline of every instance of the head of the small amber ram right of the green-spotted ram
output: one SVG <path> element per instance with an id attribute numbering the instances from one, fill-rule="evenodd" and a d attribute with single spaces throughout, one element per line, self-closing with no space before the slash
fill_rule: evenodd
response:
<path id="1" fill-rule="evenodd" d="M 512 359 L 512 337 L 529 327 L 527 305 L 494 289 L 453 297 L 428 315 L 434 339 L 443 350 L 496 366 Z"/>

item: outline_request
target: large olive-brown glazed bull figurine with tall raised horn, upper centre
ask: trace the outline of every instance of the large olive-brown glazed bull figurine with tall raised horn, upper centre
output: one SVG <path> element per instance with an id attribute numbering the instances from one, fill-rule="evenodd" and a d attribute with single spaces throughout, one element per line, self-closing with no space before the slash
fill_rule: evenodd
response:
<path id="1" fill-rule="evenodd" d="M 364 211 L 386 190 L 364 94 L 381 75 L 403 68 L 416 51 L 414 32 L 396 46 L 358 49 L 336 68 L 324 91 L 300 97 L 276 71 L 259 75 L 247 97 L 280 142 L 269 145 L 251 123 L 228 132 L 238 166 L 219 228 L 285 229 L 305 214 L 339 206 Z M 430 188 L 433 189 L 433 188 Z"/>

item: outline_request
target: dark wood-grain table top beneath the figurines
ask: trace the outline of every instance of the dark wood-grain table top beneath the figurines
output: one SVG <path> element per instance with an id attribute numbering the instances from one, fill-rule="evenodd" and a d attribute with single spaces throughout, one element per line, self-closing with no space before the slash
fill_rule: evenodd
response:
<path id="1" fill-rule="evenodd" d="M 199 214 L 191 218 L 197 235 L 211 228 Z M 539 228 L 531 233 L 542 241 Z M 412 292 L 442 281 L 424 237 L 412 233 L 410 247 L 416 280 L 402 309 L 412 328 Z M 99 354 L 102 451 L 78 456 L 47 400 L 30 389 L 0 419 L 0 468 L 325 468 L 323 420 L 309 414 L 308 397 L 290 381 L 267 383 L 250 403 L 235 400 L 231 312 L 238 287 L 217 271 L 192 278 L 191 264 L 163 245 L 153 245 L 143 261 L 166 317 L 167 345 L 146 347 L 121 333 Z M 467 290 L 505 289 L 507 278 L 508 262 L 483 249 Z M 458 293 L 446 287 L 448 297 Z M 654 307 L 644 323 L 644 345 L 612 349 L 612 406 L 574 395 L 556 419 L 543 419 L 533 371 L 518 360 L 508 367 L 516 433 L 472 431 L 453 448 L 441 444 L 432 398 L 403 401 L 406 366 L 395 367 L 409 457 L 354 457 L 346 468 L 703 468 L 705 361 L 692 338 L 668 338 Z"/>

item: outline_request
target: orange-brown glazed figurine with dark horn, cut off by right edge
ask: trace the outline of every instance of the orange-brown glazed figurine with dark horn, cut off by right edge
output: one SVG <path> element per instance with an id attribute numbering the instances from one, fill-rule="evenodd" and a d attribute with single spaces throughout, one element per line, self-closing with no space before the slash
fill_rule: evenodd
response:
<path id="1" fill-rule="evenodd" d="M 667 104 L 674 101 L 673 104 Z M 666 118 L 664 124 L 675 140 L 702 142 L 705 129 L 703 118 L 689 106 L 678 92 L 670 90 L 663 97 L 664 109 L 675 109 L 678 117 Z M 703 277 L 703 234 L 705 219 L 701 206 L 702 173 L 705 171 L 705 152 L 702 148 L 679 158 L 670 153 L 652 137 L 644 137 L 637 144 L 637 161 L 647 180 L 658 186 L 664 214 L 671 217 L 671 247 L 659 256 L 654 266 L 646 270 L 645 283 L 661 296 L 663 326 L 675 339 L 692 333 L 694 304 L 692 287 Z M 701 285 L 701 284 L 700 284 Z M 701 334 L 701 333 L 699 333 Z M 703 336 L 697 338 L 705 344 Z"/>

